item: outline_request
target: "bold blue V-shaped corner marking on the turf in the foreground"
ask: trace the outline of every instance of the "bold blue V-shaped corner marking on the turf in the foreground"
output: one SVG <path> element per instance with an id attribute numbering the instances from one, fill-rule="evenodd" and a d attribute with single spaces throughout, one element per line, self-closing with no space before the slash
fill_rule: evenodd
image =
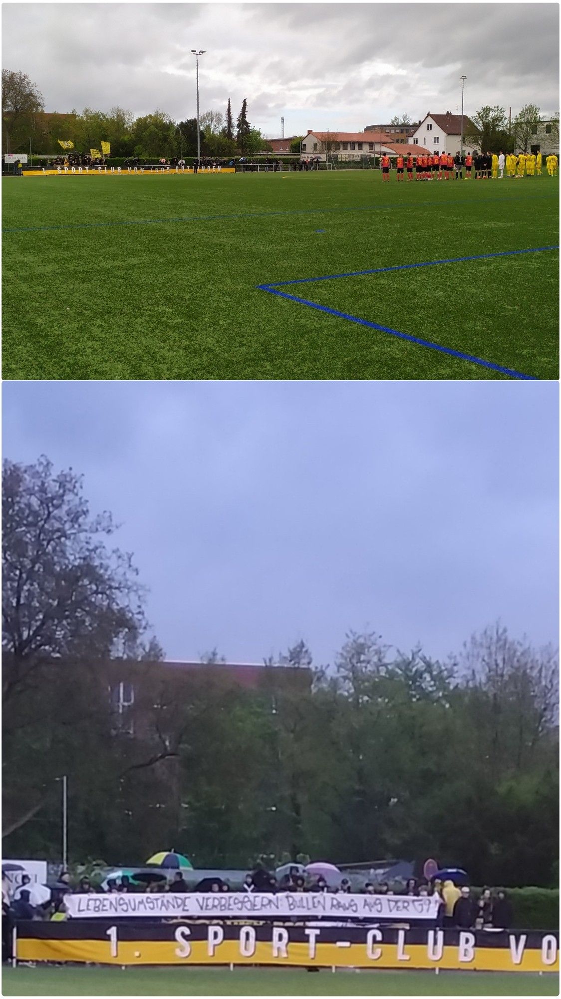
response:
<path id="1" fill-rule="evenodd" d="M 482 358 L 473 357 L 471 354 L 464 354 L 462 351 L 454 351 L 451 347 L 442 347 L 440 344 L 433 344 L 429 340 L 422 340 L 420 337 L 412 337 L 410 334 L 400 333 L 399 330 L 392 330 L 391 327 L 380 326 L 379 323 L 371 323 L 369 320 L 360 319 L 358 316 L 350 316 L 348 313 L 339 312 L 338 309 L 330 309 L 328 306 L 320 306 L 317 305 L 316 302 L 309 302 L 307 299 L 300 299 L 295 295 L 289 295 L 287 292 L 279 292 L 277 289 L 286 285 L 303 285 L 313 281 L 330 281 L 333 278 L 355 278 L 361 277 L 364 274 L 384 274 L 388 271 L 407 271 L 416 267 L 433 267 L 435 264 L 458 264 L 463 263 L 464 261 L 489 260 L 493 257 L 512 257 L 516 254 L 543 253 L 546 250 L 558 249 L 558 246 L 553 246 L 534 247 L 530 250 L 505 250 L 502 253 L 485 253 L 478 254 L 473 257 L 451 257 L 446 260 L 429 260 L 422 264 L 399 264 L 396 267 L 377 267 L 368 271 L 349 271 L 346 274 L 327 274 L 320 278 L 300 278 L 295 281 L 278 281 L 267 285 L 258 285 L 257 287 L 259 291 L 269 292 L 271 295 L 277 295 L 281 299 L 288 299 L 291 302 L 297 302 L 299 305 L 308 306 L 310 309 L 316 309 L 318 312 L 327 313 L 329 316 L 337 316 L 339 319 L 345 319 L 350 323 L 357 323 L 359 326 L 366 326 L 370 330 L 378 330 L 380 333 L 387 333 L 392 337 L 397 337 L 399 340 L 406 340 L 410 344 L 417 344 L 419 347 L 427 347 L 432 351 L 440 351 L 442 354 L 448 354 L 461 361 L 469 361 L 472 364 L 480 365 L 481 367 L 488 368 L 491 371 L 500 372 L 502 375 L 508 375 L 511 378 L 524 379 L 533 382 L 535 381 L 533 375 L 523 375 L 521 372 L 513 371 L 510 368 L 503 368 L 502 365 L 495 365 L 491 361 L 484 361 Z"/>

